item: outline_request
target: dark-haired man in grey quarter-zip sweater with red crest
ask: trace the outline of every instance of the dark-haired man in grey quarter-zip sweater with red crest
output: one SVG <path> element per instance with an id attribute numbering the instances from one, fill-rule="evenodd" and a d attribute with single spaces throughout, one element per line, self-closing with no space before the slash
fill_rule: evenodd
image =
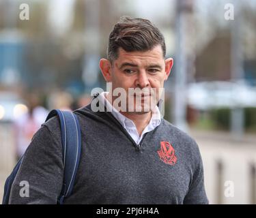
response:
<path id="1" fill-rule="evenodd" d="M 100 60 L 112 88 L 75 112 L 81 161 L 65 204 L 208 204 L 196 142 L 156 106 L 173 66 L 165 52 L 164 37 L 149 20 L 124 17 L 113 28 L 108 59 Z M 141 95 L 130 92 L 135 88 Z M 18 196 L 20 181 L 29 181 L 29 198 Z M 33 137 L 10 203 L 56 204 L 62 181 L 60 127 L 53 118 Z"/>

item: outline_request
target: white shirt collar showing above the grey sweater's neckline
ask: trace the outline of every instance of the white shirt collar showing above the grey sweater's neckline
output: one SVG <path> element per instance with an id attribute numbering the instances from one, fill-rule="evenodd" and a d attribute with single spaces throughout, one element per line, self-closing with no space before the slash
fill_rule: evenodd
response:
<path id="1" fill-rule="evenodd" d="M 109 102 L 109 100 L 106 99 L 106 95 L 108 93 L 109 92 L 100 93 L 100 95 L 99 95 L 100 102 L 102 102 L 102 104 L 104 104 L 104 102 L 106 102 L 107 111 L 110 111 L 111 114 L 113 114 L 113 116 L 115 116 L 115 119 L 117 119 L 117 121 L 119 121 L 119 123 L 121 123 L 121 125 L 124 127 L 124 129 L 126 129 L 126 131 L 128 131 L 128 134 L 132 137 L 134 142 L 136 142 L 137 144 L 139 144 L 139 142 L 141 142 L 144 134 L 146 134 L 149 131 L 154 130 L 156 127 L 158 127 L 158 125 L 160 125 L 161 114 L 158 109 L 158 106 L 156 106 L 154 108 L 154 110 L 152 111 L 152 117 L 150 119 L 150 123 L 147 124 L 145 129 L 143 129 L 141 136 L 139 136 L 139 133 L 138 133 L 137 128 L 134 125 L 133 121 L 128 119 L 126 116 L 124 116 L 120 112 L 118 112 L 117 109 L 114 108 L 112 106 L 112 104 Z"/>

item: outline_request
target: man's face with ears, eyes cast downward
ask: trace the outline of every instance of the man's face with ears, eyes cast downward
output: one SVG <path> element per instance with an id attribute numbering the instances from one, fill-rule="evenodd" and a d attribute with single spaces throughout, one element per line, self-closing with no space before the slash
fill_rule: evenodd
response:
<path id="1" fill-rule="evenodd" d="M 156 106 L 160 88 L 163 88 L 164 81 L 169 76 L 173 60 L 164 59 L 159 45 L 146 52 L 126 52 L 119 48 L 118 58 L 109 64 L 109 75 L 104 75 L 104 78 L 106 82 L 112 82 L 112 91 L 117 88 L 125 90 L 126 112 L 131 101 L 134 110 L 141 106 L 141 112 L 144 112 L 145 108 Z M 102 73 L 104 74 L 103 71 Z M 132 89 L 135 92 L 131 92 Z M 136 92 L 137 90 L 141 93 Z M 113 100 L 116 98 L 113 95 Z"/>

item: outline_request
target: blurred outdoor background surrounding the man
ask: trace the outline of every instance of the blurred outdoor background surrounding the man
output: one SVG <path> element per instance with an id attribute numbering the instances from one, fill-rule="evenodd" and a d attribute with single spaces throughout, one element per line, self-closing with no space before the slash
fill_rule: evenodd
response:
<path id="1" fill-rule="evenodd" d="M 106 90 L 98 61 L 124 15 L 165 35 L 165 119 L 199 144 L 210 204 L 256 204 L 255 0 L 0 0 L 0 198 L 48 111 Z"/>

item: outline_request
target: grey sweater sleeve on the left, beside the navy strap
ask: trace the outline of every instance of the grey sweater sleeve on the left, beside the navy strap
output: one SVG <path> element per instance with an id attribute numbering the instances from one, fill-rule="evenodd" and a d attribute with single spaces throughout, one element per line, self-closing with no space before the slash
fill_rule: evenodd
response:
<path id="1" fill-rule="evenodd" d="M 9 203 L 56 204 L 62 182 L 61 143 L 42 125 L 25 152 L 12 184 Z"/>

